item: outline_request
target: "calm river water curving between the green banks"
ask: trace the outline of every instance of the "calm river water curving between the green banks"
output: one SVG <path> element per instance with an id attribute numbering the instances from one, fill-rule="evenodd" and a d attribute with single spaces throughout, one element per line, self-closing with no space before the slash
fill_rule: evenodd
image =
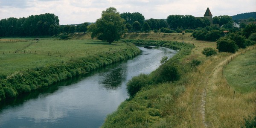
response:
<path id="1" fill-rule="evenodd" d="M 145 49 L 137 57 L 0 102 L 0 128 L 98 128 L 128 98 L 126 83 L 149 74 L 175 50 Z M 11 102 L 10 102 L 11 101 Z"/>

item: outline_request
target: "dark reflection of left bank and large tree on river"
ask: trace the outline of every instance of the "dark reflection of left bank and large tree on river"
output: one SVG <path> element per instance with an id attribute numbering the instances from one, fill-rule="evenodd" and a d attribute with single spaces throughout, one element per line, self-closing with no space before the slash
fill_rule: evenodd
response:
<path id="1" fill-rule="evenodd" d="M 58 81 L 48 87 L 43 87 L 38 90 L 32 90 L 29 93 L 22 93 L 15 98 L 4 99 L 0 101 L 0 112 L 5 107 L 17 107 L 19 105 L 23 105 L 24 102 L 28 101 L 29 99 L 37 99 L 39 95 L 44 94 L 45 96 L 55 93 L 59 88 L 63 86 L 70 86 L 74 83 L 81 81 L 82 79 L 93 76 L 96 73 L 105 73 L 104 78 L 100 81 L 100 84 L 103 85 L 105 88 L 110 88 L 111 90 L 116 89 L 117 87 L 121 86 L 122 80 L 125 79 L 125 75 L 122 74 L 124 70 L 122 67 L 117 67 L 117 65 L 122 64 L 125 65 L 126 61 L 117 62 L 115 64 L 111 64 L 105 67 L 98 68 L 96 70 L 92 70 L 90 73 L 75 76 L 70 79 L 66 79 L 63 81 Z M 109 71 L 110 70 L 110 71 Z"/>

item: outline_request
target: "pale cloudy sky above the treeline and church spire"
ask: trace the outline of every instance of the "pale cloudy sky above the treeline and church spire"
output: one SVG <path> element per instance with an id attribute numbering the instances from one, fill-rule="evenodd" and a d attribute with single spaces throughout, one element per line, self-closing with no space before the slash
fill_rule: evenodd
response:
<path id="1" fill-rule="evenodd" d="M 95 22 L 103 10 L 140 12 L 145 19 L 169 15 L 202 17 L 209 6 L 213 16 L 256 12 L 256 0 L 0 0 L 0 19 L 53 13 L 60 24 Z"/>

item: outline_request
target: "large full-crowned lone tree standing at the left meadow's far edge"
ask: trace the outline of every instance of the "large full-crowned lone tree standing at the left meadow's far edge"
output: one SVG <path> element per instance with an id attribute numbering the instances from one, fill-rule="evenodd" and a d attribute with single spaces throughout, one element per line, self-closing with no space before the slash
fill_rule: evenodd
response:
<path id="1" fill-rule="evenodd" d="M 97 37 L 111 44 L 125 33 L 125 20 L 121 18 L 116 8 L 110 7 L 102 11 L 102 17 L 96 20 L 95 26 L 90 31 L 92 38 Z"/>

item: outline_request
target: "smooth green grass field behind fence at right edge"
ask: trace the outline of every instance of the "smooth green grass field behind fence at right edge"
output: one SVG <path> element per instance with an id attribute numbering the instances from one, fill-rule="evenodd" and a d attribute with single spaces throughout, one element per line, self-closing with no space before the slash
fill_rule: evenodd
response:
<path id="1" fill-rule="evenodd" d="M 224 68 L 228 84 L 237 92 L 250 93 L 256 90 L 256 50 L 239 55 Z"/>

